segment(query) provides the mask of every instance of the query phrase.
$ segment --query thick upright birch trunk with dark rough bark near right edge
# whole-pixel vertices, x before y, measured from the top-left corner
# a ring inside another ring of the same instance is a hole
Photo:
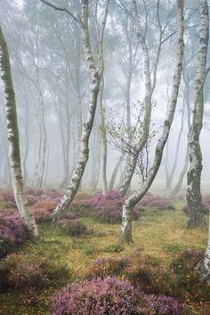
[[[202,153],[199,136],[203,125],[203,85],[206,79],[206,56],[208,49],[209,16],[206,0],[199,1],[200,32],[198,66],[195,81],[195,101],[192,113],[192,125],[188,136],[189,170],[187,174],[187,204],[189,215],[187,228],[193,229],[203,223],[202,195],[200,191],[200,178],[202,172]]]

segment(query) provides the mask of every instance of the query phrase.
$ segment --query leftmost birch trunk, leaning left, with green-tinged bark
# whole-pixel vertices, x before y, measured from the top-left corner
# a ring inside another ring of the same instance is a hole
[[[0,67],[1,78],[4,83],[4,95],[5,95],[5,110],[6,110],[6,122],[8,133],[8,145],[9,145],[9,160],[12,175],[12,185],[14,191],[14,197],[20,217],[23,222],[26,223],[31,233],[37,237],[38,231],[33,214],[28,208],[28,200],[24,191],[24,184],[22,179],[21,161],[20,161],[20,142],[19,142],[19,130],[18,119],[16,111],[15,94],[12,85],[12,73],[9,60],[9,53],[7,50],[7,44],[4,39],[2,28],[0,27]]]

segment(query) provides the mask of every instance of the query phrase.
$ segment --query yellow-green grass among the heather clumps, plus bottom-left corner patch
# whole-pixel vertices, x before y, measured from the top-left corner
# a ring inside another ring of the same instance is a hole
[[[154,260],[161,261],[167,269],[174,259],[187,248],[206,249],[207,224],[200,230],[186,230],[186,217],[181,211],[182,203],[177,203],[176,210],[157,211],[147,209],[141,214],[138,222],[133,222],[133,240],[131,245],[119,246],[117,238],[120,224],[102,224],[90,218],[82,221],[88,227],[89,233],[81,238],[70,238],[62,234],[53,225],[40,224],[41,242],[29,242],[21,246],[19,254],[35,254],[47,257],[57,264],[66,264],[72,280],[85,278],[93,260],[99,257],[123,257],[141,250]],[[47,307],[48,296],[56,290],[47,287],[36,293],[36,299],[24,303],[24,294],[7,293],[0,296],[0,314],[34,315],[49,314]],[[196,314],[197,306],[192,314]],[[198,311],[200,308],[198,307]]]

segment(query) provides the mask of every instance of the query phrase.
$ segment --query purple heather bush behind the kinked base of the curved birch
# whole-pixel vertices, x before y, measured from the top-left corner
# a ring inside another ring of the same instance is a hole
[[[94,207],[94,217],[101,222],[117,223],[122,220],[122,209],[124,198],[117,190],[109,190],[105,196],[96,194],[91,199],[91,205]],[[139,218],[139,212],[133,209],[133,220]]]

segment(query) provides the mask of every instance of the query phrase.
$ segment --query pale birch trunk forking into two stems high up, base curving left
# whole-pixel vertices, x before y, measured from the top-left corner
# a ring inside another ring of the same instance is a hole
[[[103,36],[108,16],[109,0],[107,1],[106,11],[104,14],[104,20],[102,21],[101,27],[101,38],[100,38],[100,52],[102,50]],[[85,171],[85,166],[89,158],[89,138],[93,128],[93,121],[95,116],[95,110],[97,107],[98,94],[100,91],[101,84],[101,58],[100,58],[100,73],[95,66],[93,61],[93,52],[89,40],[89,28],[88,28],[88,1],[82,1],[82,35],[83,43],[85,48],[85,57],[88,64],[88,68],[92,77],[92,89],[90,93],[89,106],[87,117],[83,125],[82,136],[80,141],[79,158],[74,174],[69,182],[66,193],[64,194],[61,202],[52,213],[54,219],[58,219],[63,216],[70,206],[71,202],[77,194],[77,190],[81,181],[81,178]],[[101,54],[101,53],[100,53]]]

